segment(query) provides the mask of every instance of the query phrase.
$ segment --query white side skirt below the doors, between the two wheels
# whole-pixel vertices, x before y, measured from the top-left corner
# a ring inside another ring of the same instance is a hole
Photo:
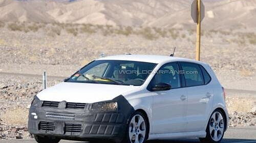
[[[148,140],[152,139],[173,139],[173,138],[191,138],[191,137],[205,137],[205,131],[196,132],[179,132],[179,133],[160,133],[160,134],[150,134]]]

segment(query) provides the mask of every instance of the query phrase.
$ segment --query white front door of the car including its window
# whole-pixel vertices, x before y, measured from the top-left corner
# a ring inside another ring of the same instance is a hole
[[[184,132],[186,129],[186,91],[181,88],[179,68],[176,62],[163,65],[150,83],[168,83],[168,91],[156,91],[153,95],[152,133]]]

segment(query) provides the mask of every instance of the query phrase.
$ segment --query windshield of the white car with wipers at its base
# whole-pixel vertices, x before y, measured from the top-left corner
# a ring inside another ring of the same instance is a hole
[[[145,62],[98,60],[80,69],[66,82],[139,86],[144,83],[155,66],[154,63]]]

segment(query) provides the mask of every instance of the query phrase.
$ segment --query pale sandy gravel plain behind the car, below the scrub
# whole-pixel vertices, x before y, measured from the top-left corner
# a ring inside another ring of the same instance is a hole
[[[52,27],[60,32],[52,31]],[[104,34],[101,30],[78,32],[74,36],[61,26],[48,24],[36,32],[25,33],[11,31],[6,24],[0,27],[0,72],[41,74],[46,70],[48,75],[69,76],[97,59],[100,53],[169,55],[174,46],[177,47],[175,56],[195,58],[195,30],[163,29],[161,34],[167,32],[167,36],[153,39],[150,36],[159,33],[139,35],[136,34],[139,27],[134,28],[134,34],[127,36],[112,31]],[[223,86],[255,90],[256,42],[251,39],[256,37],[255,32],[228,30],[202,33],[201,61],[211,65]]]

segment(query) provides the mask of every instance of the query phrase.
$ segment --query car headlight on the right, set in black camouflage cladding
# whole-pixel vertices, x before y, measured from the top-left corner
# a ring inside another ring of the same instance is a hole
[[[105,111],[105,110],[117,110],[117,102],[99,102],[93,103],[91,110]]]

